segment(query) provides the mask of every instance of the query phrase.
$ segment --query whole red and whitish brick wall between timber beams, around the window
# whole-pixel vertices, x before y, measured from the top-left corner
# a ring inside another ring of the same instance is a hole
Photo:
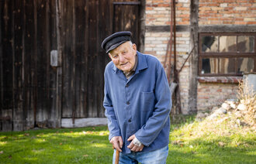
[[[201,26],[255,26],[256,3],[251,0],[199,0],[198,2],[198,27]],[[192,50],[192,37],[190,32],[191,1],[176,0],[176,54],[177,70],[189,56]],[[146,1],[146,32],[144,53],[157,56],[162,63],[167,50],[170,37],[171,24],[171,0],[147,0]],[[167,27],[169,26],[169,27]],[[154,30],[156,29],[156,30]],[[161,30],[162,29],[162,30]],[[228,31],[226,31],[228,32]],[[197,48],[197,47],[196,47]],[[173,54],[172,54],[173,55]],[[190,57],[191,58],[191,57]],[[171,59],[173,63],[173,58]],[[189,60],[179,73],[181,91],[181,107],[183,114],[189,114],[189,83],[193,76],[189,74],[192,67]],[[197,67],[197,66],[196,66]],[[196,77],[195,77],[196,78]],[[213,77],[214,79],[214,77]],[[214,81],[214,80],[213,80]],[[236,98],[237,80],[222,81],[225,83],[213,83],[209,80],[198,80],[197,83],[197,110],[206,111],[213,105],[221,104],[227,98]]]

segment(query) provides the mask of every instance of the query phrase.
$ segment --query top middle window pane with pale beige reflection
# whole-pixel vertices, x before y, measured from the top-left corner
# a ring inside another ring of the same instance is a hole
[[[236,52],[237,36],[220,36],[220,52]]]

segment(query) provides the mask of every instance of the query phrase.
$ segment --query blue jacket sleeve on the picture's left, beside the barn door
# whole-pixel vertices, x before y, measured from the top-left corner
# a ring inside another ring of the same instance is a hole
[[[106,73],[104,73],[105,78],[105,86],[104,86],[104,100],[103,100],[103,107],[106,109],[105,115],[108,119],[108,127],[109,127],[109,141],[112,137],[121,136],[120,128],[118,121],[116,120],[116,114],[114,108],[112,106],[111,97],[109,95],[109,84]]]

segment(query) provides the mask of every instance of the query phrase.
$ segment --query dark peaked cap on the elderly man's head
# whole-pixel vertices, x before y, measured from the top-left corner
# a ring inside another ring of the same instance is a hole
[[[111,36],[108,36],[103,40],[102,49],[106,50],[106,53],[109,53],[109,51],[116,49],[117,46],[130,41],[131,35],[132,32],[130,31],[113,33]]]

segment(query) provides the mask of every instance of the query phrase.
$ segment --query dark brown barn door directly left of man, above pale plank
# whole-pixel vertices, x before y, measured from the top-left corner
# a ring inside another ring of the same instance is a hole
[[[62,118],[102,118],[103,73],[109,57],[101,48],[111,32],[109,0],[60,1]]]

